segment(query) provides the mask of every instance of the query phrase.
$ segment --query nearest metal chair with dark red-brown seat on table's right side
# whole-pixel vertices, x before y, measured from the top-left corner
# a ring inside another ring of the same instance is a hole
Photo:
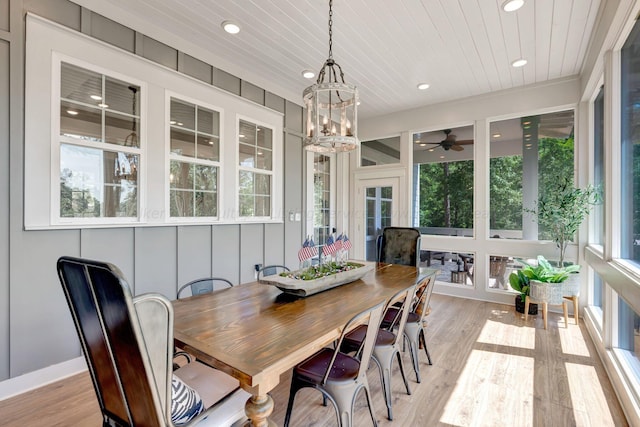
[[[289,402],[284,419],[285,427],[289,426],[291,420],[296,393],[305,387],[320,391],[324,398],[331,401],[336,409],[340,427],[353,425],[353,406],[356,396],[360,390],[364,389],[373,425],[378,425],[367,382],[367,367],[382,320],[383,308],[384,303],[379,303],[354,316],[345,325],[334,349],[323,348],[293,368]],[[359,357],[350,356],[340,351],[347,331],[353,329],[354,325],[365,324],[364,339],[356,352]]]

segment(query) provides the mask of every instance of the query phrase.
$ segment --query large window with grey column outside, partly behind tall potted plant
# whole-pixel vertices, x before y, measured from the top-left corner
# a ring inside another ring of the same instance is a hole
[[[525,209],[558,182],[573,181],[573,110],[490,125],[490,236],[549,240]]]

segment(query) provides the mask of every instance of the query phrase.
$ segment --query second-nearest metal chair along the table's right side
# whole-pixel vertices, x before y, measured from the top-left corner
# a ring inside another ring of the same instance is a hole
[[[404,373],[404,365],[402,364],[402,356],[400,355],[400,346],[403,340],[403,331],[405,324],[407,323],[407,317],[409,310],[411,309],[411,303],[416,292],[416,285],[412,285],[407,289],[397,292],[385,307],[385,315],[392,309],[393,304],[399,303],[400,305],[393,309],[395,315],[393,320],[386,326],[381,326],[378,330],[376,337],[376,343],[373,347],[373,355],[371,359],[378,365],[380,371],[380,379],[382,380],[382,391],[384,393],[384,399],[387,404],[387,418],[393,420],[392,412],[392,400],[391,400],[391,370],[393,365],[393,357],[398,359],[398,365],[400,367],[400,374],[404,381],[404,386],[407,389],[407,394],[411,394],[411,388],[407,382],[407,377]],[[394,333],[394,328],[397,331]],[[342,343],[342,350],[346,353],[352,351],[358,351],[362,345],[366,332],[365,326],[358,326],[353,331],[349,332]]]

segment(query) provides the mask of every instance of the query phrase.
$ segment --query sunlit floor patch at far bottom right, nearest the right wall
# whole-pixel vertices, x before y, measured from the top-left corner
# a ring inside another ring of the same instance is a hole
[[[565,363],[576,425],[613,426],[607,399],[593,366]],[[600,415],[601,419],[593,419]]]

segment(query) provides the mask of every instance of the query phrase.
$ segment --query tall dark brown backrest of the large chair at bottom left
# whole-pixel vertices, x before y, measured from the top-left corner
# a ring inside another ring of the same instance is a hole
[[[62,257],[58,276],[89,367],[104,425],[162,426],[160,402],[140,351],[140,325],[117,267]]]

